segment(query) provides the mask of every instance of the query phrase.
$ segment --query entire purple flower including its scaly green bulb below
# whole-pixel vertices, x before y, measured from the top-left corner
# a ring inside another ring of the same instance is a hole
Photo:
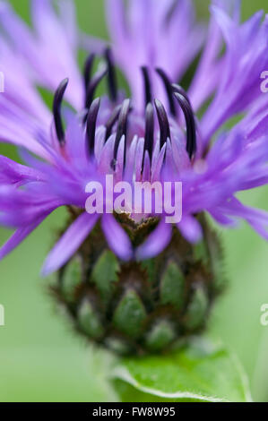
[[[259,12],[240,23],[239,2],[214,0],[206,31],[189,0],[108,0],[108,46],[78,32],[72,1],[58,6],[32,1],[33,29],[0,6],[0,138],[24,161],[0,157],[0,223],[16,229],[0,257],[67,207],[42,272],[59,271],[56,295],[76,327],[118,352],[160,351],[203,327],[221,288],[220,244],[204,213],[226,227],[246,219],[268,239],[267,213],[236,197],[268,181],[268,95],[260,90],[268,19]],[[90,49],[83,73],[81,46]],[[186,92],[177,82],[200,51]],[[131,99],[117,88],[115,64]],[[104,78],[108,95],[95,98]],[[37,86],[55,92],[52,112]],[[104,185],[107,175],[182,182],[182,220],[167,224],[153,208],[137,217],[123,204],[121,214],[87,213],[86,185]]]

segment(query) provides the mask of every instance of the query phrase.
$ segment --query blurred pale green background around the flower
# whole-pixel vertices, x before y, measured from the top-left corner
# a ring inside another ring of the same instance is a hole
[[[11,3],[30,20],[28,0]],[[75,3],[82,29],[107,38],[103,1]],[[208,3],[195,0],[203,17],[208,14]],[[246,19],[265,5],[267,8],[267,0],[242,0],[242,5]],[[11,151],[0,147],[1,153],[6,150]],[[243,196],[246,203],[268,211],[267,188]],[[39,277],[54,228],[64,219],[65,211],[56,211],[0,263],[0,304],[5,309],[5,325],[0,327],[0,401],[117,400],[106,379],[108,354],[89,348],[70,331],[48,296],[48,280]],[[0,243],[9,235],[0,229]],[[268,326],[260,323],[261,305],[268,303],[268,247],[246,225],[223,231],[222,239],[229,288],[214,310],[210,335],[238,354],[254,399],[268,401]]]

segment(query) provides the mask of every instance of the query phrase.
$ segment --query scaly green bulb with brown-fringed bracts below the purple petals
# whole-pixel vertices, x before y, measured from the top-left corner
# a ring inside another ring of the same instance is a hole
[[[51,286],[77,331],[119,355],[164,352],[201,333],[224,279],[219,238],[203,215],[196,218],[203,228],[198,245],[174,228],[160,254],[130,262],[108,249],[98,223]],[[117,219],[134,249],[158,223]]]

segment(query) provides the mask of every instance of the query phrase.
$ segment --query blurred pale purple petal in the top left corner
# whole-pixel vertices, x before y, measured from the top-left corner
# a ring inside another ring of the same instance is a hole
[[[67,3],[66,3],[67,2]],[[68,0],[61,1],[62,7],[70,7]],[[0,21],[4,30],[13,40],[13,49],[25,59],[25,64],[30,66],[36,82],[50,90],[56,90],[58,83],[70,78],[66,98],[76,109],[82,108],[82,77],[76,64],[75,53],[77,45],[73,45],[73,24],[67,35],[65,21],[56,16],[51,0],[31,2],[34,30],[20,20],[12,8],[1,4]],[[61,13],[62,15],[62,13]],[[63,16],[63,15],[62,15]],[[65,18],[66,19],[66,16]],[[44,59],[45,58],[45,59]],[[19,58],[18,60],[19,61]],[[53,71],[51,71],[53,69]],[[16,66],[9,69],[9,73],[17,74]]]

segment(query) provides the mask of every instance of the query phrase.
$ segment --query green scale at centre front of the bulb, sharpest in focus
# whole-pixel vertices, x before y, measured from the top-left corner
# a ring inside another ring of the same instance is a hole
[[[142,300],[134,289],[129,289],[117,305],[114,315],[114,325],[118,331],[136,338],[143,329],[146,311]]]

